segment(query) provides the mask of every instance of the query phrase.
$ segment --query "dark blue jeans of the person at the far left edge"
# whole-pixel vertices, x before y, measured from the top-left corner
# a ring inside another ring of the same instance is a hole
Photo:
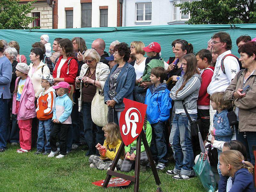
[[[0,98],[0,148],[6,148],[7,127],[8,127],[8,102],[9,99]]]

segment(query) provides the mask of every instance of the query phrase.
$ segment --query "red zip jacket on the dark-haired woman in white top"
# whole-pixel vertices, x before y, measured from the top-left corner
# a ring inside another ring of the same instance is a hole
[[[63,58],[63,55],[60,55],[58,62],[55,64],[55,67],[52,72],[53,78],[57,77],[57,69],[58,69],[58,66],[60,65],[60,60],[62,58]],[[68,60],[70,60],[69,66],[68,66]],[[70,85],[73,85],[75,90],[76,90],[75,80],[77,76],[77,71],[78,71],[78,63],[76,61],[76,58],[74,57],[68,57],[68,59],[66,60],[66,62],[64,63],[60,71],[60,78],[64,78],[65,82],[67,82]]]

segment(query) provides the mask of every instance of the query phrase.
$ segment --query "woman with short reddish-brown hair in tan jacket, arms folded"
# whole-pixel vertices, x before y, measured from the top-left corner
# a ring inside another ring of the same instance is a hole
[[[225,91],[224,99],[232,100],[236,120],[236,140],[246,147],[247,161],[255,164],[252,146],[256,145],[256,42],[247,42],[238,49],[242,69]],[[252,89],[243,92],[246,86]]]

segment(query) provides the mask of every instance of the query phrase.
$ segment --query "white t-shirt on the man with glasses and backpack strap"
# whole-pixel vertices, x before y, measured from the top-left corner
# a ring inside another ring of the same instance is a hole
[[[236,60],[236,58],[233,56],[228,56],[224,59],[224,67],[225,67],[226,74],[222,72],[221,60],[227,54],[231,54],[231,51],[228,50],[220,54],[219,57],[217,58],[213,76],[212,76],[212,81],[207,88],[207,92],[210,95],[214,92],[225,91],[228,85],[230,84],[231,80],[234,79],[234,77],[236,76],[236,73],[240,69],[239,63]]]

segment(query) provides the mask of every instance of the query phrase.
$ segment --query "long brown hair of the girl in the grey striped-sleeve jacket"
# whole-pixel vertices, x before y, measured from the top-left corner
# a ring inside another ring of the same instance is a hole
[[[195,74],[199,74],[199,71],[197,69],[197,61],[196,61],[196,57],[194,54],[189,53],[187,55],[184,55],[182,58],[182,60],[186,60],[187,61],[187,67],[186,67],[186,72],[184,74],[184,81],[183,84],[180,86],[180,88],[177,90],[176,92],[176,96],[178,94],[179,91],[181,91],[185,85],[188,83],[188,80]]]

